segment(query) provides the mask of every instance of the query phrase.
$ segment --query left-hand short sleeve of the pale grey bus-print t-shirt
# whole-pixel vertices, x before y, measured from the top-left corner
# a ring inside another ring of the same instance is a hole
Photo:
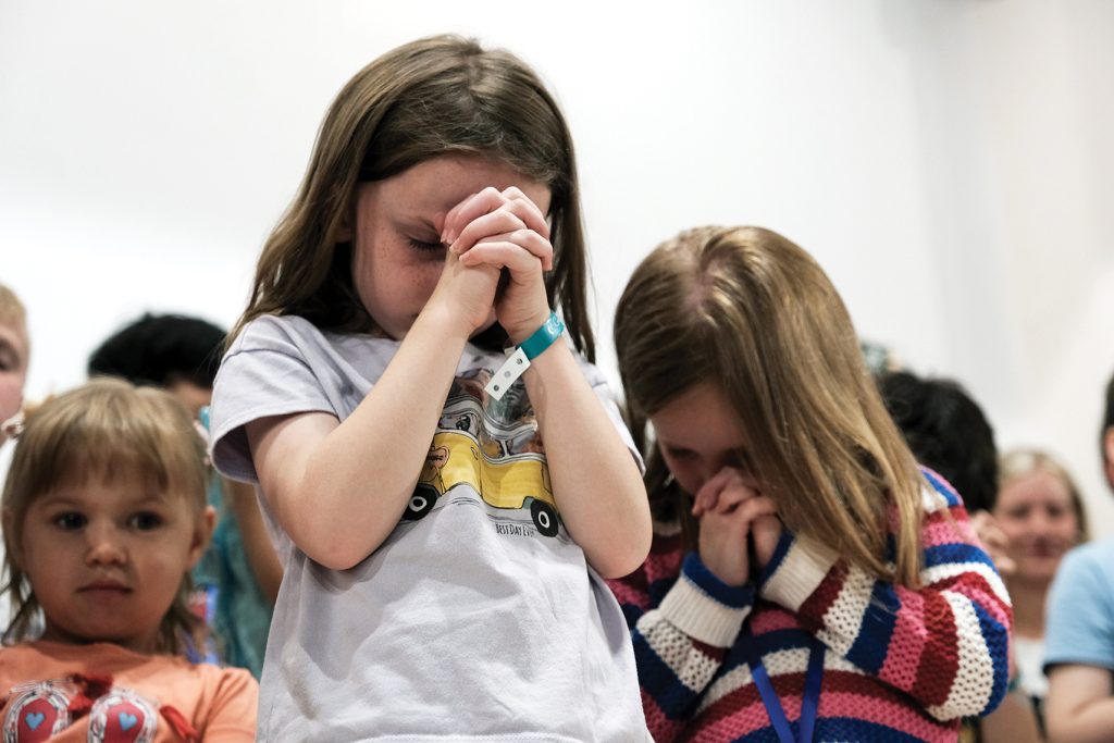
[[[225,354],[213,384],[213,466],[234,480],[258,483],[247,423],[301,412],[336,413],[303,344],[280,320],[251,322]]]

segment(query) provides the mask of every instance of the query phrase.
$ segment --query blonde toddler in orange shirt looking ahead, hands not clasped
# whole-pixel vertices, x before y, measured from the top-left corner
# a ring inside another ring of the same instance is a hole
[[[205,638],[187,606],[205,481],[166,392],[104,379],[28,413],[2,501],[4,740],[254,740],[255,680],[182,656]]]

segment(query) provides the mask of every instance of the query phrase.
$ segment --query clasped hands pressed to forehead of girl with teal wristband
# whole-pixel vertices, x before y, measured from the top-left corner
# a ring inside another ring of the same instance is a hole
[[[485,188],[449,211],[440,227],[449,252],[434,297],[450,302],[470,332],[483,326],[492,307],[514,343],[548,319],[543,272],[553,268],[554,248],[545,215],[526,194],[514,186]]]

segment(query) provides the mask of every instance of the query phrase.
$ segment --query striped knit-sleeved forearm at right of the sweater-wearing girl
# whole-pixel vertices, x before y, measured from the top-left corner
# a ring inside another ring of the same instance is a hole
[[[965,561],[978,555],[985,564]],[[916,590],[873,578],[805,539],[783,538],[773,565],[763,597],[795,612],[829,648],[934,717],[985,714],[1005,694],[1008,599],[981,550],[931,566]]]

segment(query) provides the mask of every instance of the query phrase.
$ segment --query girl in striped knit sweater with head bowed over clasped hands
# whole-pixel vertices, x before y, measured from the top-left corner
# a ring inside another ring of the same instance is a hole
[[[635,270],[615,343],[655,535],[612,588],[656,740],[955,741],[997,705],[1005,587],[808,253],[682,233]]]

